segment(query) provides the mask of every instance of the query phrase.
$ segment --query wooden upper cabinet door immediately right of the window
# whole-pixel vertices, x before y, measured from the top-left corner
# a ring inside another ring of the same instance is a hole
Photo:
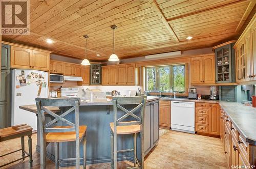
[[[203,83],[202,80],[202,57],[191,58],[190,60],[191,83]]]

